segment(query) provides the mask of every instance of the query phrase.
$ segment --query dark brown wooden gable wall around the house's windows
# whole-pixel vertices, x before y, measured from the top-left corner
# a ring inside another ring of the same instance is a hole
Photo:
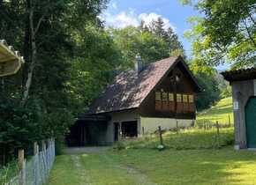
[[[171,83],[171,76],[178,74],[180,76],[179,82],[177,85]],[[163,78],[159,85],[154,88],[154,91],[148,94],[147,99],[142,102],[139,107],[139,114],[144,117],[169,117],[169,118],[179,118],[179,119],[195,119],[195,105],[191,104],[193,111],[186,113],[178,113],[177,108],[175,111],[157,111],[155,110],[155,92],[164,92],[169,93],[182,93],[182,94],[195,94],[195,86],[192,82],[192,79],[187,74],[187,71],[184,70],[184,67],[181,63],[177,64],[175,69],[171,70],[166,78]],[[177,107],[176,97],[175,98],[175,107]]]

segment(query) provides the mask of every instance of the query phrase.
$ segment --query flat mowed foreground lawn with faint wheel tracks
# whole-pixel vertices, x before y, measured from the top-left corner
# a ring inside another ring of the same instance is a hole
[[[57,156],[49,185],[253,185],[255,152],[130,149]],[[76,164],[79,162],[79,165]]]

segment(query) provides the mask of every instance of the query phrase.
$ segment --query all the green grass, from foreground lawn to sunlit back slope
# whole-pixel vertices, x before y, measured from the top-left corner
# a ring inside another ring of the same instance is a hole
[[[230,98],[198,118],[221,122],[228,115]],[[101,154],[57,156],[49,185],[256,185],[256,152],[234,151],[233,132],[221,128],[219,144],[215,128],[166,132],[162,152],[152,135],[118,142]]]

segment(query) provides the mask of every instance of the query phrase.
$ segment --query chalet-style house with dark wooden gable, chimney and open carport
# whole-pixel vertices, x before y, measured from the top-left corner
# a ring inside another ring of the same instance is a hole
[[[89,111],[81,115],[66,138],[71,146],[113,144],[120,137],[139,137],[189,127],[196,117],[195,94],[200,85],[181,56],[169,57],[122,72]]]

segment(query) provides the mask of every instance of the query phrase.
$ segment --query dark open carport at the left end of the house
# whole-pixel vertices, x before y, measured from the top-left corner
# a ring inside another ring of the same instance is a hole
[[[93,146],[108,145],[107,141],[108,122],[104,119],[79,119],[65,137],[67,146]]]

